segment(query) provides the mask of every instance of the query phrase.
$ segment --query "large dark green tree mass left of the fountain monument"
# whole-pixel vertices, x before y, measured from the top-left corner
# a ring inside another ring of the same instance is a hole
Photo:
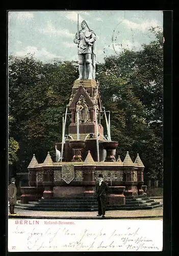
[[[32,55],[9,60],[10,135],[19,142],[20,168],[25,171],[33,153],[43,162],[62,140],[62,115],[78,72],[75,62],[43,63]]]

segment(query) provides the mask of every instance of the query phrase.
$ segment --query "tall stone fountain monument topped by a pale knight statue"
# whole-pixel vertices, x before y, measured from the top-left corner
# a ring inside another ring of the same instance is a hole
[[[85,20],[81,27],[73,40],[78,45],[79,78],[73,82],[63,119],[62,142],[56,143],[61,157],[53,162],[48,152],[44,162],[38,163],[33,156],[28,166],[30,187],[21,188],[22,203],[41,198],[88,201],[94,197],[95,181],[100,173],[110,188],[108,205],[125,205],[125,198],[143,195],[144,165],[139,155],[135,162],[129,152],[123,162],[115,156],[118,142],[110,140],[110,121],[103,111],[99,82],[95,80],[97,36]],[[65,137],[67,113],[71,115],[71,123]],[[106,116],[108,139],[100,123],[102,114]]]

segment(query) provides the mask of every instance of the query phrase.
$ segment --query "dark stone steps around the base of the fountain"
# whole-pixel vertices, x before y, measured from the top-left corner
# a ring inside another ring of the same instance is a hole
[[[162,204],[148,197],[126,198],[125,205],[106,205],[106,210],[137,210],[161,207]],[[94,198],[55,198],[39,199],[28,204],[17,201],[15,206],[24,210],[42,211],[97,211],[97,200]]]

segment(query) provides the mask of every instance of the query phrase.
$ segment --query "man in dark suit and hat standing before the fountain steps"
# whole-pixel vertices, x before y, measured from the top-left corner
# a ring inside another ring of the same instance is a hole
[[[106,211],[106,197],[108,193],[108,184],[103,180],[103,175],[99,174],[98,182],[95,186],[95,194],[98,202],[98,215],[102,218],[105,218],[105,211]]]

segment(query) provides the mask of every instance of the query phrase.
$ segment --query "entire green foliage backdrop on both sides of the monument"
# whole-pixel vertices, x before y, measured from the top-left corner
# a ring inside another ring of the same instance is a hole
[[[103,106],[111,112],[111,137],[119,141],[117,155],[139,153],[144,178],[163,177],[163,35],[140,51],[123,50],[96,65]],[[33,55],[9,58],[9,164],[27,172],[33,154],[43,162],[62,140],[62,115],[69,103],[74,61],[43,63]],[[103,122],[103,120],[102,120]],[[66,131],[67,133],[67,131]]]

